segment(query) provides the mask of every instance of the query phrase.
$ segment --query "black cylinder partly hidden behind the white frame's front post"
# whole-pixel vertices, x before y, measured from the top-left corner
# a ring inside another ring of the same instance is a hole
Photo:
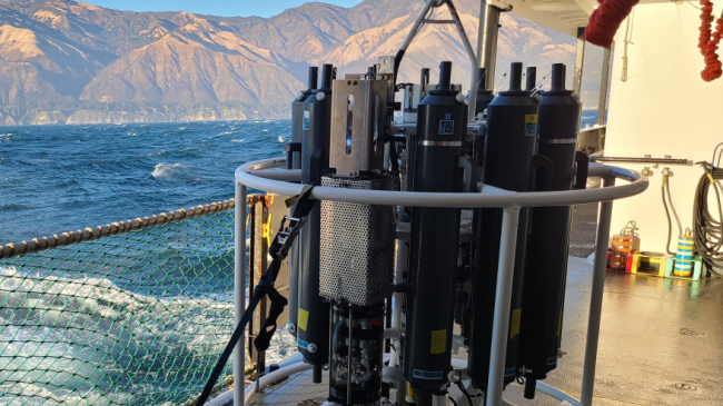
[[[532,157],[537,136],[537,102],[529,97],[529,92],[519,89],[522,63],[513,63],[511,75],[509,90],[501,92],[487,107],[484,182],[512,191],[529,191]],[[475,218],[478,218],[479,250],[473,280],[468,373],[475,385],[483,389],[487,387],[489,370],[502,217],[502,209],[479,209],[475,212]],[[517,229],[505,384],[513,382],[517,374],[526,237],[527,210],[522,209]]]

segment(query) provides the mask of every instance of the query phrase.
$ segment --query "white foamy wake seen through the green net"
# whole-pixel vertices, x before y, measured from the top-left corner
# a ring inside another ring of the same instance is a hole
[[[232,329],[228,295],[159,299],[99,276],[0,266],[0,404],[179,404]]]

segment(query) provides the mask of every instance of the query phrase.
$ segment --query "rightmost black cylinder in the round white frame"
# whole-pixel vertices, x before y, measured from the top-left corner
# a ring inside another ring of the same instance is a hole
[[[539,103],[537,155],[552,161],[551,182],[538,170],[537,190],[571,190],[575,176],[575,150],[580,129],[581,103],[565,90],[564,66],[553,65],[549,91]],[[532,209],[532,227],[527,242],[527,270],[523,295],[525,317],[521,327],[519,364],[524,365],[529,385],[544,379],[557,367],[557,349],[562,334],[563,303],[567,275],[571,207]],[[531,379],[532,378],[532,379]],[[532,389],[531,394],[534,393]]]

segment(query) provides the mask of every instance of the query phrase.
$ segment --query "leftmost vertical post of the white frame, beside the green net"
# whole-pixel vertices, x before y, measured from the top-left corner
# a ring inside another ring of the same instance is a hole
[[[234,222],[234,319],[241,321],[246,310],[246,186],[236,184],[236,208]],[[234,405],[244,406],[246,390],[246,345],[245,337],[236,344],[234,350]]]

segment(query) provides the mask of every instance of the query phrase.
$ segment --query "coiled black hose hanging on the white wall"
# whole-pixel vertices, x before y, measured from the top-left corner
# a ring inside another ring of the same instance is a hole
[[[721,205],[720,180],[723,179],[723,169],[713,168],[707,162],[699,162],[705,174],[701,176],[695,189],[693,204],[693,235],[695,250],[701,256],[707,268],[717,276],[723,276],[723,207]],[[711,215],[709,208],[709,191],[713,187],[717,202],[717,219]]]

